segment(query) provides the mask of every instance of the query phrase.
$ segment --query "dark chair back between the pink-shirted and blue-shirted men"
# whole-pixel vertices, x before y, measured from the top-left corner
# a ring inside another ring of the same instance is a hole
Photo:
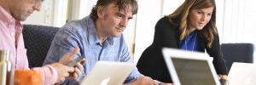
[[[58,27],[24,25],[23,37],[29,67],[42,66]]]

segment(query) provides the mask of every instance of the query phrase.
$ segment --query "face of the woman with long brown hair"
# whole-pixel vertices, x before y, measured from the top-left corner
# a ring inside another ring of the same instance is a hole
[[[189,11],[189,30],[202,30],[212,18],[213,7],[191,9]]]

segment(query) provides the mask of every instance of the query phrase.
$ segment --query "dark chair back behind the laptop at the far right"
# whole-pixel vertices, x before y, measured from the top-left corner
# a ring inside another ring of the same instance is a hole
[[[230,71],[233,62],[253,63],[252,43],[223,43],[221,51],[226,60],[227,71]]]

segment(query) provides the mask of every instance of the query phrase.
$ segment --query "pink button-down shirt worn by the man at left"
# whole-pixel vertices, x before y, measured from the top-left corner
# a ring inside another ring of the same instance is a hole
[[[0,6],[0,50],[10,50],[9,58],[13,64],[13,70],[29,70],[22,28],[20,20],[15,20]],[[57,72],[50,65],[32,68],[31,70],[40,71],[43,85],[52,85],[57,81]]]

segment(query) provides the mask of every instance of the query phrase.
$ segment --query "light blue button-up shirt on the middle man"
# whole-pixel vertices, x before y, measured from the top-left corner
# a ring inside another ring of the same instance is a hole
[[[90,16],[87,16],[82,20],[67,23],[56,33],[44,60],[44,65],[59,61],[63,55],[71,52],[76,47],[80,48],[80,52],[74,57],[84,56],[86,59],[82,76],[77,79],[79,82],[99,60],[131,62],[131,54],[125,44],[123,34],[120,37],[108,37],[101,45],[96,33],[95,23],[90,19]],[[130,76],[126,78],[125,83],[134,82],[142,76],[135,68]],[[74,83],[75,81],[68,81],[69,85]],[[67,83],[65,82],[65,84]]]

